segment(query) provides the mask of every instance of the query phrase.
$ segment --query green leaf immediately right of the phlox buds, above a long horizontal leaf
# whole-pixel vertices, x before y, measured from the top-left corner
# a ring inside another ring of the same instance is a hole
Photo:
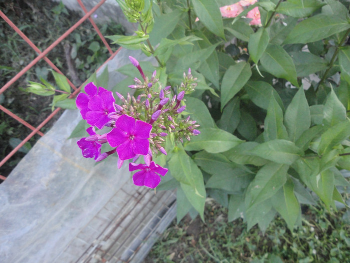
[[[211,118],[208,108],[204,102],[196,98],[186,98],[186,112],[190,114],[191,119],[198,122],[200,128],[215,128],[216,125]]]

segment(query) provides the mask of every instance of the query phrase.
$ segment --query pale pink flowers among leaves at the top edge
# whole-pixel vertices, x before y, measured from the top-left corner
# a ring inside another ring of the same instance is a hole
[[[225,18],[235,18],[243,12],[244,7],[253,5],[257,0],[241,0],[233,5],[220,8],[221,16]],[[251,19],[249,25],[261,26],[260,12],[257,7],[253,8],[246,14],[246,18]]]

